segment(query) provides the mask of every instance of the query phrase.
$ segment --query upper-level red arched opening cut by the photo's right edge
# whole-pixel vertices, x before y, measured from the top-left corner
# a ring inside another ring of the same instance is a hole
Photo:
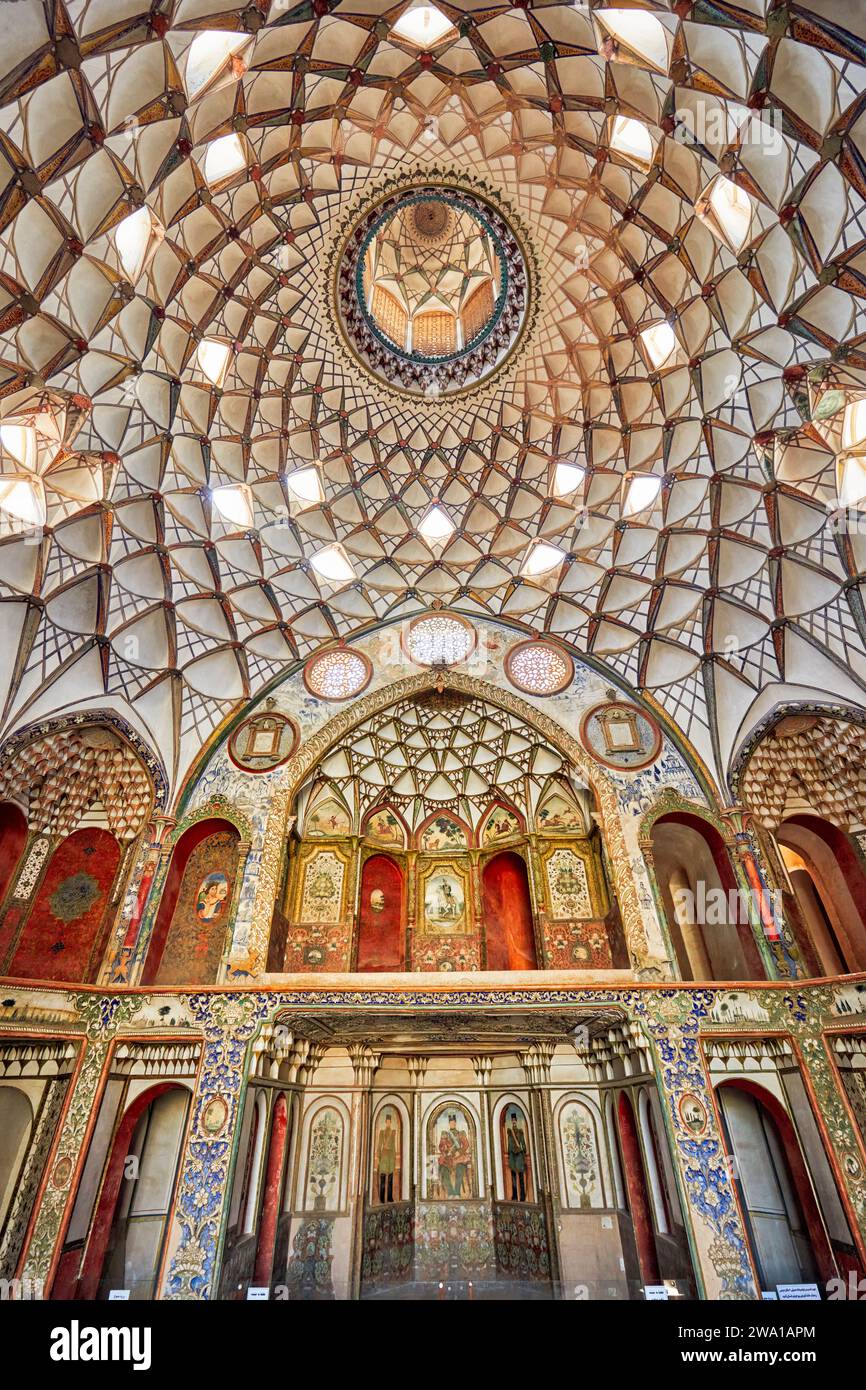
[[[866,872],[847,831],[822,816],[790,816],[776,841],[788,870],[815,974],[866,970]]]

